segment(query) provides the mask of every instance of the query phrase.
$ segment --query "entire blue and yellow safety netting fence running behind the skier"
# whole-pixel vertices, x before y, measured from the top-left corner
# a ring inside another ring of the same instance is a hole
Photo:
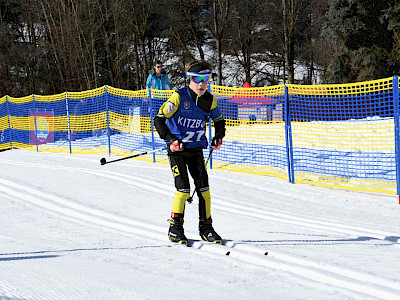
[[[396,194],[398,88],[393,78],[318,86],[210,85],[227,129],[211,166],[294,183]],[[4,96],[0,150],[129,156],[157,149],[165,142],[153,118],[172,93],[103,86],[57,95]],[[211,123],[206,135],[213,136]],[[141,159],[168,162],[165,151]]]

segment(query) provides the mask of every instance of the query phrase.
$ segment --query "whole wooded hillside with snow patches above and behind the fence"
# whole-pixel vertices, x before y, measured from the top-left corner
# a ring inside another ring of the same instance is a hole
[[[0,97],[144,88],[154,59],[172,86],[190,60],[214,84],[315,84],[400,74],[398,0],[6,0]]]

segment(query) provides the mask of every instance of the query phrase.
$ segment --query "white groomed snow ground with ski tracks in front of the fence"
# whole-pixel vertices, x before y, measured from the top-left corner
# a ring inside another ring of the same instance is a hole
[[[226,245],[195,199],[186,247],[169,166],[101,157],[0,153],[0,299],[400,299],[397,196],[209,170]]]

